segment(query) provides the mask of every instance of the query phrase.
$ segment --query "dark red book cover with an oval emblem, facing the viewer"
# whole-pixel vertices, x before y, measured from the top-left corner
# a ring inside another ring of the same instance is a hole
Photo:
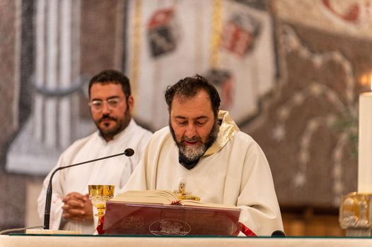
[[[240,209],[107,201],[105,234],[237,236]]]

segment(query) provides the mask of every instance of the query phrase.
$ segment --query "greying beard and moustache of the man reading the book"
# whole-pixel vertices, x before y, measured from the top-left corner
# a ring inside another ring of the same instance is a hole
[[[209,135],[207,137],[207,142],[202,143],[202,145],[198,145],[197,147],[194,146],[189,146],[185,145],[183,142],[185,141],[200,141],[202,142],[202,138],[199,135],[195,135],[192,138],[187,138],[185,135],[182,136],[180,142],[178,142],[176,136],[175,136],[175,131],[172,127],[172,124],[170,123],[169,120],[169,128],[170,128],[170,133],[172,133],[173,140],[177,144],[179,150],[180,150],[180,157],[182,157],[183,161],[185,163],[192,163],[192,162],[197,162],[200,157],[204,155],[204,152],[207,151],[211,145],[216,141],[217,135],[219,135],[219,121],[214,122],[214,126],[211,128],[211,132],[209,132]]]

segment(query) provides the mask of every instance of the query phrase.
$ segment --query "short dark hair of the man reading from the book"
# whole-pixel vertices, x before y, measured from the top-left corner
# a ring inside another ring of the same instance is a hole
[[[194,97],[200,90],[204,90],[209,95],[211,100],[211,107],[214,112],[214,116],[217,117],[219,114],[219,106],[221,103],[219,92],[217,92],[214,85],[208,82],[203,76],[196,74],[194,77],[183,78],[172,86],[168,86],[165,90],[165,102],[168,104],[168,111],[172,108],[172,102],[174,97]]]

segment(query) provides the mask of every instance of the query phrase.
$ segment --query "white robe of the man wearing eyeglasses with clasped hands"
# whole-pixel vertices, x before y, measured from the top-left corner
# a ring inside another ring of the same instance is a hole
[[[62,198],[71,192],[87,194],[88,184],[115,185],[115,192],[119,191],[127,183],[136,164],[139,163],[150,137],[151,132],[138,126],[132,119],[127,128],[115,135],[113,140],[109,142],[106,142],[99,131],[96,131],[86,138],[76,140],[68,147],[59,157],[57,166],[52,171],[60,166],[116,155],[124,152],[128,147],[134,150],[134,155],[132,157],[125,155],[112,157],[57,171],[52,181],[50,229],[82,231],[83,234],[93,234],[96,224],[93,219],[86,222],[62,219],[62,205],[64,204]],[[37,198],[37,210],[41,219],[44,219],[45,195],[52,171],[45,178],[42,191]]]

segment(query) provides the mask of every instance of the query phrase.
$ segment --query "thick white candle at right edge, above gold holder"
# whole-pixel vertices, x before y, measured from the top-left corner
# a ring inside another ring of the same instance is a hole
[[[372,193],[372,92],[359,95],[358,156],[358,192]]]

